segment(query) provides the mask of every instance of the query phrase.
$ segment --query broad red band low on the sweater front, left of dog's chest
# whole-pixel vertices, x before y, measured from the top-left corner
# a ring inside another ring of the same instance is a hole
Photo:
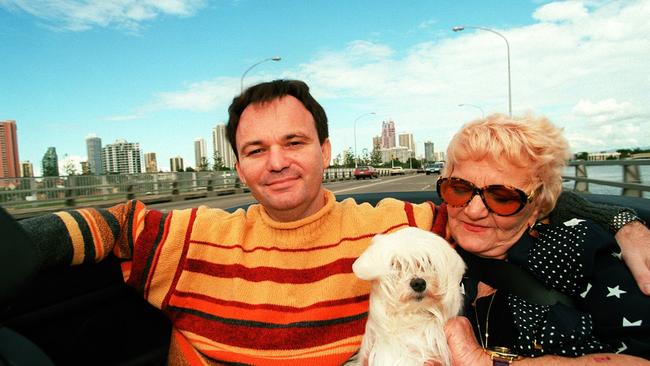
[[[222,344],[259,350],[317,347],[359,336],[364,333],[367,320],[367,317],[363,316],[326,326],[264,328],[226,324],[197,314],[170,310],[175,318],[174,325],[180,329]]]

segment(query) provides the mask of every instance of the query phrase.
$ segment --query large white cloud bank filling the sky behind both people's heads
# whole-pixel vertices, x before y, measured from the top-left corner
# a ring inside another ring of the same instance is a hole
[[[495,29],[510,45],[513,113],[548,116],[565,128],[574,151],[646,146],[650,0],[551,3],[535,19]],[[377,115],[357,126],[358,151],[372,148],[382,118],[393,118],[421,152],[426,140],[444,150],[462,123],[480,116],[458,104],[507,113],[506,65],[502,39],[467,29],[404,52],[356,40],[273,75],[308,82],[330,117],[334,155],[354,145],[352,121],[369,111]],[[197,81],[159,93],[144,109],[223,111],[238,91],[235,77]]]

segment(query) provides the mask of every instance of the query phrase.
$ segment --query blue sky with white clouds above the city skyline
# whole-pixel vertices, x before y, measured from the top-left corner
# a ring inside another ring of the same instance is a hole
[[[0,0],[0,120],[36,174],[49,146],[86,160],[89,135],[194,166],[194,140],[211,159],[212,128],[263,61],[245,86],[306,81],[333,157],[372,150],[389,119],[418,155],[444,151],[509,99],[574,152],[647,147],[648,19],[650,0]]]

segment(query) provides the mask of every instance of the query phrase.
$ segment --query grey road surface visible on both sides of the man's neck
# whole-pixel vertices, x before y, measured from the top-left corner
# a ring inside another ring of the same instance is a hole
[[[379,177],[377,179],[362,179],[326,183],[325,188],[334,194],[376,193],[376,192],[405,192],[405,191],[434,191],[436,175],[412,174],[395,177]],[[250,193],[226,196],[197,198],[185,201],[148,204],[148,207],[161,211],[183,209],[205,205],[215,208],[229,208],[255,202]]]

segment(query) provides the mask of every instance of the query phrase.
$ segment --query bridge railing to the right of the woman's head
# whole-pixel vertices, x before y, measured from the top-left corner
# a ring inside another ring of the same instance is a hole
[[[570,161],[570,167],[575,168],[575,175],[562,176],[562,179],[574,181],[573,190],[589,192],[589,184],[598,184],[609,187],[621,188],[621,195],[628,197],[643,197],[643,192],[650,192],[650,185],[643,183],[641,166],[650,165],[650,159],[624,159],[601,161]],[[620,166],[622,169],[622,182],[589,178],[588,167]],[[646,177],[647,179],[647,177]]]

